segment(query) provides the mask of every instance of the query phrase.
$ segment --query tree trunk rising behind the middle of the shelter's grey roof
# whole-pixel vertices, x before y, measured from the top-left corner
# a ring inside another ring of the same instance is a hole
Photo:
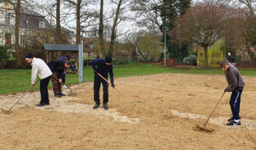
[[[55,43],[61,43],[61,41],[61,0],[57,0]],[[61,51],[55,51],[55,60],[58,60],[60,57]]]

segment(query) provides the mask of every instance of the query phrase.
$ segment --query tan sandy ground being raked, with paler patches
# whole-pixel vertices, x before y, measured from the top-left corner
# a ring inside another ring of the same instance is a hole
[[[72,85],[76,94],[65,89],[62,98],[49,89],[47,107],[35,107],[38,91],[28,93],[12,113],[0,112],[0,149],[256,150],[256,78],[243,78],[241,127],[225,125],[231,116],[226,93],[207,124],[212,133],[196,128],[222,95],[224,75],[156,74],[117,78],[108,111],[92,109],[92,83]],[[0,108],[8,110],[20,95],[0,95]]]

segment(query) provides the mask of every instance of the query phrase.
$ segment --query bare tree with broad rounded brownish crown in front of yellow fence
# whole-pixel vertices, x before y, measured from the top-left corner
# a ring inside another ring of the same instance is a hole
[[[181,40],[189,40],[205,49],[205,66],[208,66],[207,48],[224,36],[226,9],[210,3],[199,4],[188,10],[178,22]]]

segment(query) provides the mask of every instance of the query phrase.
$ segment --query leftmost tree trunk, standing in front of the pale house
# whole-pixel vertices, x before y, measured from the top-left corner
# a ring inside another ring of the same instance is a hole
[[[16,52],[16,67],[20,68],[22,66],[23,55],[20,51],[20,44],[19,44],[19,26],[20,26],[20,0],[17,0],[17,5],[15,9],[15,52]]]

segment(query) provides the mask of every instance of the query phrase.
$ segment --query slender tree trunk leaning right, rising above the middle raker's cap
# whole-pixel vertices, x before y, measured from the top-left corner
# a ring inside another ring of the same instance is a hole
[[[109,53],[108,53],[108,55],[111,55],[111,56],[113,55],[113,44],[114,44],[115,37],[116,37],[115,28],[117,26],[117,20],[119,19],[119,11],[120,11],[121,4],[122,4],[122,0],[119,0],[118,8],[116,9],[115,18],[113,20],[113,26],[112,26],[112,32],[111,32],[111,41],[110,41]]]

